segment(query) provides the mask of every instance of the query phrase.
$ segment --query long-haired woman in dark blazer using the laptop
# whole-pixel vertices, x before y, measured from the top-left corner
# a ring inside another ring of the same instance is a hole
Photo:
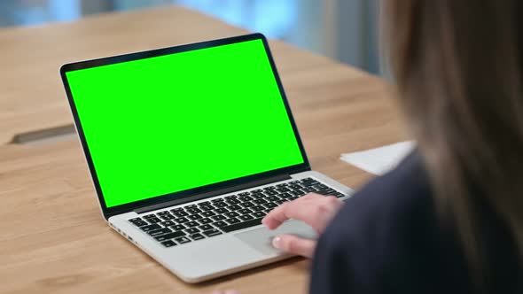
[[[418,150],[341,208],[315,195],[278,207],[269,228],[294,218],[322,236],[274,244],[315,252],[310,293],[523,293],[523,4],[382,4]]]

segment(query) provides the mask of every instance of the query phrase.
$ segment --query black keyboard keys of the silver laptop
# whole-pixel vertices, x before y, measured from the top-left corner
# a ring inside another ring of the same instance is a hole
[[[263,217],[278,205],[310,192],[345,196],[322,182],[306,178],[149,213],[129,221],[165,247],[172,247],[260,225]]]

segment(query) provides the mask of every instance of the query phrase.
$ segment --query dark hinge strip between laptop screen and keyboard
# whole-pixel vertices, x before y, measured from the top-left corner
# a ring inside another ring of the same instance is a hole
[[[291,175],[289,175],[289,174],[281,174],[281,175],[277,175],[277,176],[274,176],[274,177],[270,177],[270,178],[266,178],[266,179],[262,179],[262,180],[258,180],[258,181],[254,181],[254,182],[248,182],[248,183],[245,183],[245,184],[236,185],[236,186],[232,186],[232,187],[229,187],[229,188],[224,188],[224,189],[221,189],[221,190],[214,190],[214,191],[210,191],[210,192],[199,194],[199,195],[195,195],[195,196],[183,197],[183,198],[180,198],[180,199],[171,200],[171,201],[167,201],[167,202],[164,202],[164,203],[159,203],[159,204],[156,204],[156,205],[148,205],[148,206],[140,207],[140,208],[135,209],[134,212],[135,213],[152,212],[153,210],[158,210],[158,209],[169,207],[169,206],[183,205],[185,203],[196,201],[196,200],[200,200],[200,199],[204,199],[204,198],[207,198],[207,197],[213,197],[213,196],[218,196],[218,195],[222,195],[222,194],[227,194],[227,193],[238,191],[238,190],[246,190],[246,189],[254,188],[254,187],[257,187],[257,186],[262,186],[262,185],[265,185],[265,184],[268,184],[268,183],[271,183],[271,182],[280,182],[280,181],[285,181],[285,180],[289,180],[289,179],[292,179]]]

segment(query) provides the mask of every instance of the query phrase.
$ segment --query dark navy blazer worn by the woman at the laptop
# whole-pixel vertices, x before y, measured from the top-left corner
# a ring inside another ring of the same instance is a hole
[[[488,205],[478,209],[488,270],[482,292],[523,293],[510,231]],[[436,213],[423,160],[413,153],[349,198],[326,228],[310,293],[476,293],[458,240]]]

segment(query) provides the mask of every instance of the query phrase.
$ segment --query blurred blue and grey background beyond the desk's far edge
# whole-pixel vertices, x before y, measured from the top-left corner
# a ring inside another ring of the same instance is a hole
[[[0,0],[0,27],[180,4],[380,74],[379,0]]]

